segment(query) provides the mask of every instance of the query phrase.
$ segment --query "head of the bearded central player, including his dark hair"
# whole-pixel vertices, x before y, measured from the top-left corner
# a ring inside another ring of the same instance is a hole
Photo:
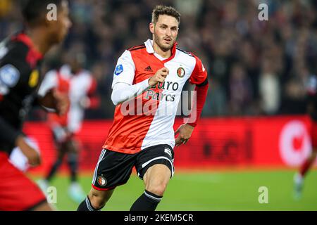
[[[153,41],[163,50],[173,47],[178,37],[180,13],[170,6],[156,6],[152,12],[149,29],[153,34]]]

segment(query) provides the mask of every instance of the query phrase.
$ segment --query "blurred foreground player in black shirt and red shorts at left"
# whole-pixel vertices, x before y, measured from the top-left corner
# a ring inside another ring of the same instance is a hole
[[[57,7],[56,20],[46,17],[49,4]],[[23,7],[23,18],[25,30],[0,44],[0,210],[51,210],[42,191],[9,162],[8,156],[18,147],[30,165],[39,165],[37,150],[21,131],[25,116],[37,104],[60,114],[68,108],[67,98],[56,92],[37,96],[42,58],[63,41],[71,25],[68,2],[29,0]]]

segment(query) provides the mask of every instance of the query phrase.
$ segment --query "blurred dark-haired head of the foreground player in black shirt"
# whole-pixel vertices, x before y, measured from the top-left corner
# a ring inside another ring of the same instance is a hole
[[[24,3],[22,13],[28,28],[42,28],[49,44],[63,41],[71,25],[67,0],[26,0]]]

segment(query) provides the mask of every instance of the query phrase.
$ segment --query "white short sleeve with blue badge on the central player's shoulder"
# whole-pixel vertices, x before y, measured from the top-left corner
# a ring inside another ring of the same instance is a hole
[[[132,60],[130,51],[125,52],[118,59],[116,69],[113,72],[112,88],[117,83],[126,83],[132,85],[135,78],[135,63]]]

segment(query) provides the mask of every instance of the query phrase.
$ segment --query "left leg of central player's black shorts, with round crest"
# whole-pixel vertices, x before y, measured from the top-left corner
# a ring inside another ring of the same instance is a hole
[[[127,183],[135,165],[136,155],[102,150],[94,169],[92,188],[109,191]]]

